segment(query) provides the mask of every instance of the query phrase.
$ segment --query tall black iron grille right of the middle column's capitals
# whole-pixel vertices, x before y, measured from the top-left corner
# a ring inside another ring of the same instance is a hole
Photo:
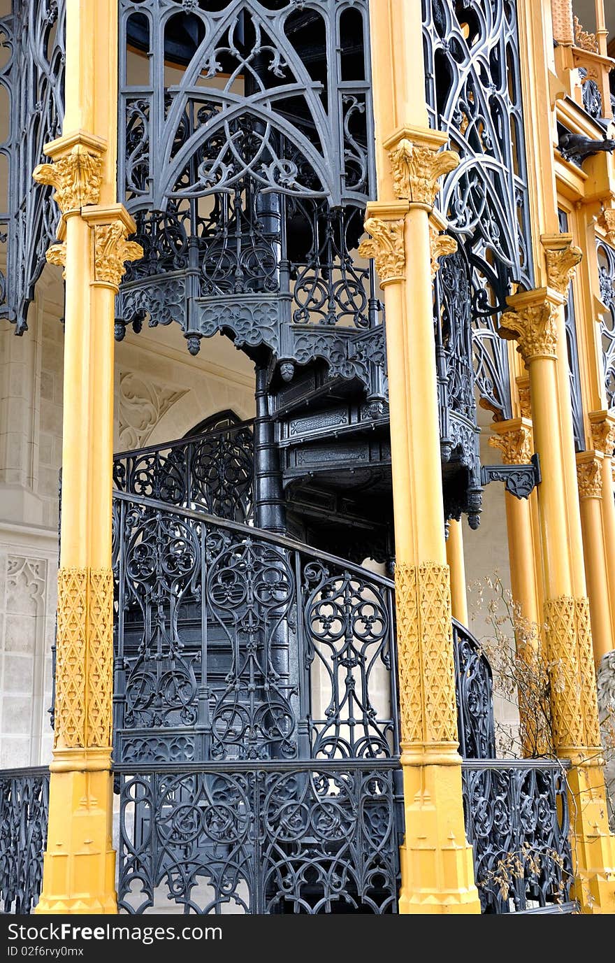
[[[448,134],[460,165],[436,203],[458,252],[441,260],[435,319],[441,391],[452,413],[443,455],[460,461],[466,491],[448,516],[475,527],[480,481],[474,386],[497,421],[512,417],[507,346],[497,321],[513,284],[533,286],[516,5],[511,0],[423,2],[430,126]],[[450,345],[450,348],[448,346]]]

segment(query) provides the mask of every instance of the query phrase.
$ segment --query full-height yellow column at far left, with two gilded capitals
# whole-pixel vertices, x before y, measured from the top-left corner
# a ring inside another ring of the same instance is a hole
[[[55,187],[64,264],[62,546],[49,826],[36,912],[115,913],[112,847],[114,303],[135,224],[115,202],[116,0],[67,0],[63,136],[35,180]]]

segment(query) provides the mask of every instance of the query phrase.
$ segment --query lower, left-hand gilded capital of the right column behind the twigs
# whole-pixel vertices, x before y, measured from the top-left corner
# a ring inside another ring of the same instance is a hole
[[[538,288],[506,301],[511,310],[500,318],[500,337],[519,342],[517,351],[526,364],[535,358],[556,358],[557,309],[563,298],[551,288]]]

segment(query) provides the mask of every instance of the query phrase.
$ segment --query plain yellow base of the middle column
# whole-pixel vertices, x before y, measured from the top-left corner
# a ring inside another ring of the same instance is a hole
[[[463,820],[461,765],[403,767],[400,914],[480,913]]]

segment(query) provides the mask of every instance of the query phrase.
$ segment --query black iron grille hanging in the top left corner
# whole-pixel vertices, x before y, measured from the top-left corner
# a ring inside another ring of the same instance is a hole
[[[0,89],[8,117],[0,143],[7,197],[0,213],[0,317],[14,323],[16,334],[27,330],[28,305],[59,220],[52,188],[35,184],[32,171],[45,159],[43,144],[62,132],[64,17],[64,0],[13,0],[12,13],[0,18]]]

